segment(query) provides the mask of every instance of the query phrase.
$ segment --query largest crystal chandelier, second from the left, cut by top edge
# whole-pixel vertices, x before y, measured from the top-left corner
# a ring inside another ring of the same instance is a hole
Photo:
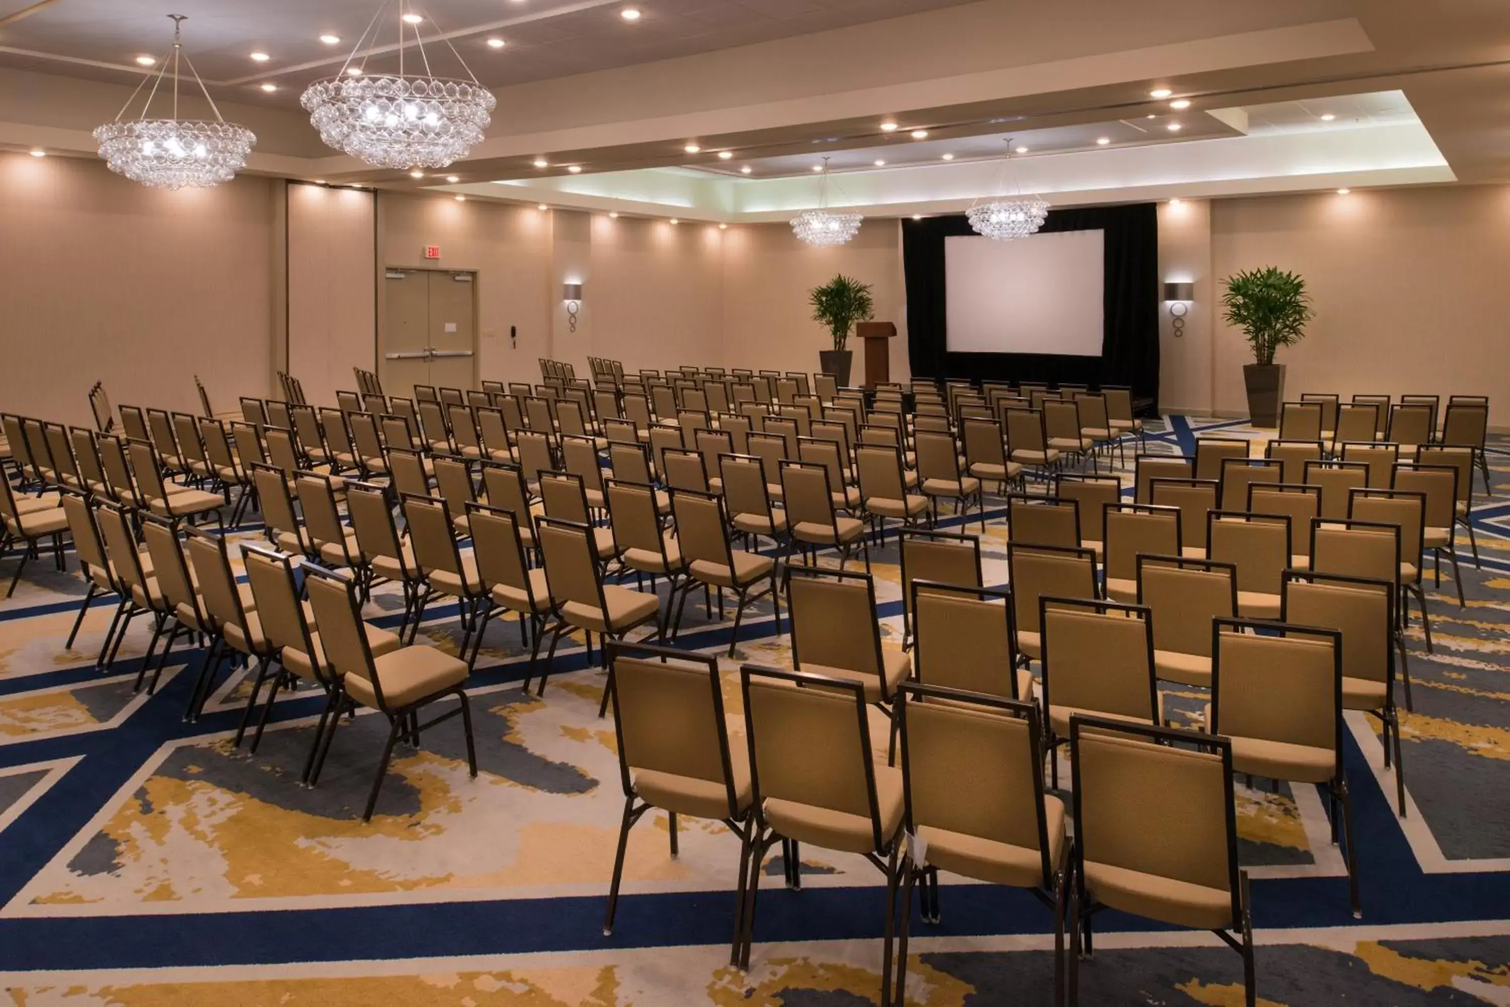
[[[378,41],[378,24],[390,3],[384,3],[356,48],[335,77],[317,80],[299,98],[320,139],[335,149],[358,157],[374,168],[445,168],[465,157],[482,140],[498,106],[492,92],[477,83],[450,39],[468,80],[447,80],[430,74],[430,60],[420,38],[420,15],[406,0],[399,8],[399,72],[365,72],[364,45]],[[424,74],[405,74],[405,27],[414,29]],[[361,62],[358,62],[358,54]]]

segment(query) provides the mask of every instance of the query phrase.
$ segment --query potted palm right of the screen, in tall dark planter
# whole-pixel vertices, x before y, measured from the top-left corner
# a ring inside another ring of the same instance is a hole
[[[1243,329],[1253,349],[1253,362],[1243,367],[1247,386],[1247,412],[1256,427],[1279,426],[1285,400],[1285,365],[1274,362],[1274,350],[1305,338],[1306,322],[1315,317],[1306,281],[1276,266],[1234,273],[1222,281],[1226,293],[1228,325]]]

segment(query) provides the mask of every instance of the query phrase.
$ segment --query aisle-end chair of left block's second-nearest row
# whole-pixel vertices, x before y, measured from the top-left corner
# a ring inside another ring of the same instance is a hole
[[[545,562],[545,584],[556,617],[556,630],[551,633],[551,646],[545,657],[545,667],[541,669],[536,696],[545,694],[545,681],[550,678],[551,661],[556,658],[556,645],[562,634],[571,630],[581,630],[586,636],[589,658],[592,657],[593,633],[604,640],[624,639],[631,631],[654,624],[657,637],[664,640],[661,630],[666,624],[660,617],[660,598],[651,592],[602,581],[595,531],[587,524],[559,518],[536,519],[536,537],[541,542],[541,556]],[[530,678],[525,678],[525,691],[528,687]],[[604,690],[598,716],[601,717],[607,708],[609,693]]]

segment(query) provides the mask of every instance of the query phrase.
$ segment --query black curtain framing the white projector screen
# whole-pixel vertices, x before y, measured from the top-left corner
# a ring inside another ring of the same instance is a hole
[[[912,373],[974,380],[1131,385],[1158,399],[1158,210],[1051,210],[1042,231],[1105,231],[1105,335],[1101,356],[950,353],[945,340],[944,239],[974,234],[963,214],[901,222],[908,282],[908,356]]]

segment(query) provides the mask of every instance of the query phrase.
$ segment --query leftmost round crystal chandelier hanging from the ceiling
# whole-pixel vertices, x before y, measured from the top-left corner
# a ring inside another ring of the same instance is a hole
[[[153,98],[168,74],[168,59],[162,60],[157,77],[143,77],[130,100],[115,116],[94,131],[100,142],[100,157],[106,160],[110,171],[125,175],[131,181],[151,186],[154,189],[208,189],[230,181],[236,172],[246,166],[246,156],[252,152],[257,137],[245,125],[236,125],[220,118],[220,110],[214,106],[214,98],[199,79],[199,71],[187,56],[183,56],[180,30],[187,20],[181,14],[169,14],[174,20],[174,118],[148,119],[146,113],[153,107]],[[189,63],[189,72],[204,94],[214,112],[214,122],[178,118],[178,60]],[[131,107],[136,97],[153,82],[153,89],[146,94],[142,115],[137,119],[122,119],[125,110]]]

